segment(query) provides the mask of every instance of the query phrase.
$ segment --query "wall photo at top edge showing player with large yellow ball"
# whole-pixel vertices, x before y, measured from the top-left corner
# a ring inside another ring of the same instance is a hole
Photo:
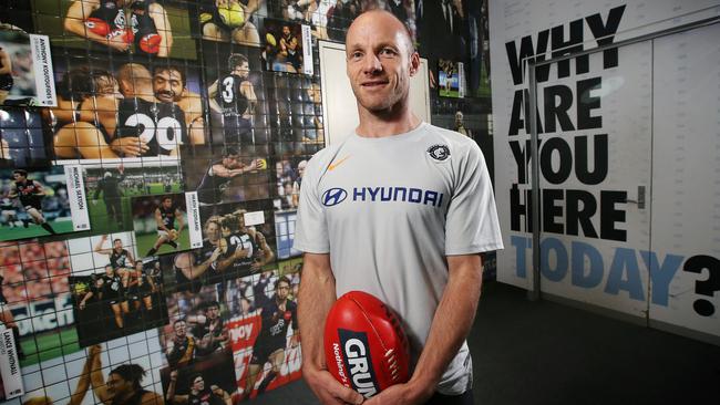
[[[202,0],[199,24],[204,40],[259,46],[255,14],[265,0]]]

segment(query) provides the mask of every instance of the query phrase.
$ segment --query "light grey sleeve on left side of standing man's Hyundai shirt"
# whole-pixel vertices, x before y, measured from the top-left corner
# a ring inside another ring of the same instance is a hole
[[[320,167],[317,156],[308,163],[300,187],[300,202],[295,222],[292,247],[307,253],[330,252],[325,207],[320,204]]]

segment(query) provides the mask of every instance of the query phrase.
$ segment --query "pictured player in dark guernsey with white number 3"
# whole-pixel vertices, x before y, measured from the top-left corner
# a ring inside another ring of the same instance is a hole
[[[210,107],[223,115],[227,144],[253,143],[253,114],[257,96],[250,82],[247,58],[233,53],[227,60],[230,73],[218,77],[208,89]]]

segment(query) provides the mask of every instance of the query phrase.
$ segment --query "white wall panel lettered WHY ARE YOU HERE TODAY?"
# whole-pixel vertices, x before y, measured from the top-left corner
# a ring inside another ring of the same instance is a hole
[[[532,282],[528,123],[534,113],[541,142],[542,290],[635,316],[655,319],[657,313],[661,322],[720,335],[720,281],[713,281],[716,273],[720,279],[720,228],[698,233],[677,226],[688,221],[709,227],[717,207],[711,202],[688,206],[682,219],[673,218],[669,207],[660,216],[654,208],[676,196],[682,181],[675,176],[682,165],[665,164],[678,152],[673,148],[692,162],[696,175],[717,168],[717,159],[708,158],[707,152],[703,156],[708,148],[717,150],[717,141],[710,139],[718,139],[717,123],[686,120],[685,127],[678,128],[679,117],[670,113],[677,105],[660,111],[658,104],[672,104],[685,93],[689,97],[685,100],[686,115],[702,100],[709,108],[707,116],[717,117],[710,110],[720,105],[718,86],[707,83],[718,82],[720,75],[698,70],[702,70],[700,65],[706,71],[717,70],[718,52],[700,48],[716,59],[698,56],[691,59],[696,63],[683,64],[678,59],[688,58],[689,50],[664,51],[664,59],[658,53],[664,42],[649,40],[555,63],[537,71],[536,112],[528,111],[525,69],[525,60],[535,55],[542,61],[611,45],[719,11],[717,1],[600,4],[580,0],[566,7],[551,1],[491,1],[495,196],[506,247],[497,252],[500,281],[523,288]],[[704,35],[706,42],[718,38],[709,32],[699,35]],[[668,41],[677,39],[668,37]],[[695,43],[680,42],[686,48]],[[695,69],[696,74],[686,74],[672,86],[658,81],[658,70],[675,71],[682,65],[688,73]],[[665,86],[661,95],[658,86]],[[707,90],[707,94],[701,92],[704,98],[690,97],[691,89],[698,86]],[[716,89],[714,93],[709,89]],[[699,139],[704,144],[697,144],[693,152],[679,146],[678,135],[703,131],[704,137]],[[712,183],[709,177],[707,181]],[[706,201],[719,200],[720,185],[716,183],[713,188],[707,181],[700,181],[706,187],[700,195],[707,195]],[[680,191],[673,201],[680,204],[688,195]],[[660,224],[665,228],[659,228]],[[667,241],[668,235],[675,239]],[[716,243],[703,245],[700,239]],[[686,270],[688,266],[697,272]],[[699,300],[701,303],[696,303]]]

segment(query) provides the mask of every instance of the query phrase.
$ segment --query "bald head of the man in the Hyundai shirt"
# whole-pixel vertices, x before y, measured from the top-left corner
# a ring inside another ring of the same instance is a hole
[[[360,14],[348,30],[346,56],[359,108],[373,115],[404,113],[420,56],[398,18],[382,10]]]

